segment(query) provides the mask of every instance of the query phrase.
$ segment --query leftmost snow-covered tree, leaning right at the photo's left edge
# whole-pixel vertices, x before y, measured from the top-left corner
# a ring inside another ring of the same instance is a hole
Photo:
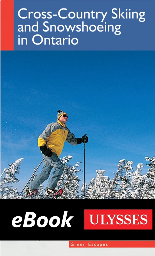
[[[19,168],[23,158],[19,158],[15,163],[8,165],[1,174],[1,198],[2,199],[15,199],[18,196],[17,188],[12,189],[10,184],[19,182],[16,174],[19,173]]]

